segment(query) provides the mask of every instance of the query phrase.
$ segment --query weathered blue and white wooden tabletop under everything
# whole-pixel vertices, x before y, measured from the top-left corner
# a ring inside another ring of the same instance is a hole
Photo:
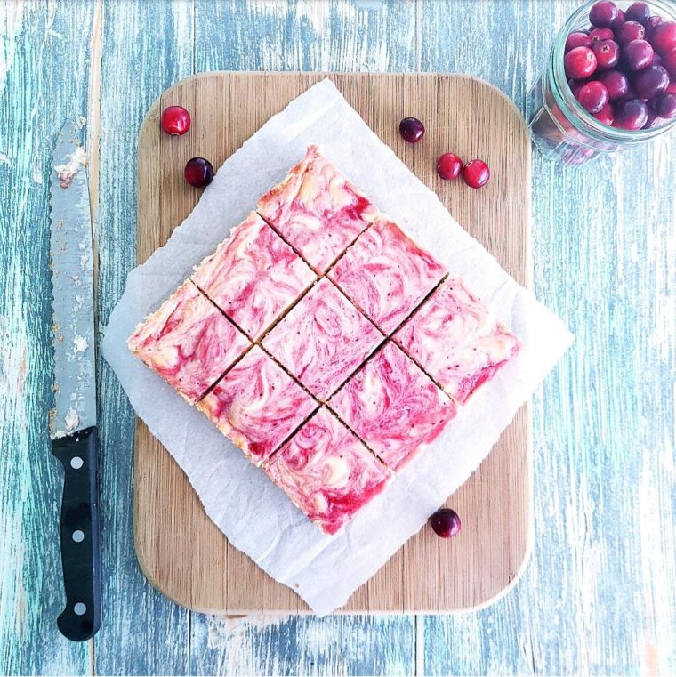
[[[165,87],[212,69],[463,72],[523,109],[576,0],[0,3],[0,673],[676,673],[676,135],[581,168],[534,156],[535,293],[576,341],[535,395],[535,550],[458,616],[218,619],[133,552],[133,412],[100,363],[105,620],[56,630],[47,179],[84,115],[101,330],[135,261],[135,144]]]

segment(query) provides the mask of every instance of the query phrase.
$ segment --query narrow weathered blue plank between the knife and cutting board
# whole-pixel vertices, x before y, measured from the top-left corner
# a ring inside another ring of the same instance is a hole
[[[133,268],[136,139],[141,120],[166,86],[193,70],[192,5],[104,3],[101,54],[101,176],[97,227],[99,311],[105,326]],[[180,674],[189,665],[189,613],[153,590],[133,550],[134,417],[101,360],[104,622],[95,672]]]

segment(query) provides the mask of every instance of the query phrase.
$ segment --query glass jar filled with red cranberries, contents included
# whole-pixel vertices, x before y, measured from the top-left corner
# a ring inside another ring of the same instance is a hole
[[[676,125],[676,4],[591,0],[556,36],[528,93],[545,157],[582,165]]]

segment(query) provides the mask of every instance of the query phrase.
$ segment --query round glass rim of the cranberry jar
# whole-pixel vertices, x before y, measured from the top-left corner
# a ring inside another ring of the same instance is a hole
[[[557,104],[564,111],[568,122],[575,127],[578,132],[586,134],[596,141],[606,141],[608,143],[638,143],[654,139],[662,133],[668,132],[676,125],[676,117],[666,120],[662,125],[650,127],[649,129],[628,130],[619,127],[610,127],[603,125],[599,120],[583,109],[574,94],[571,92],[566,77],[566,71],[563,65],[563,57],[566,53],[566,39],[571,32],[575,32],[578,23],[585,16],[589,15],[591,7],[597,0],[587,0],[585,4],[573,12],[559,30],[559,34],[554,40],[551,48],[550,68],[548,78],[550,80],[551,92],[553,93]],[[619,4],[619,3],[616,3]],[[629,3],[631,4],[631,3]],[[666,15],[667,20],[676,21],[676,11],[674,4],[666,0],[648,0],[650,9],[656,9],[662,16]]]

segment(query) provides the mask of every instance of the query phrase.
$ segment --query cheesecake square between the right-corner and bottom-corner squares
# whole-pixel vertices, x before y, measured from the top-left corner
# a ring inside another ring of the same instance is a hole
[[[388,341],[328,402],[392,470],[439,437],[455,402]]]

